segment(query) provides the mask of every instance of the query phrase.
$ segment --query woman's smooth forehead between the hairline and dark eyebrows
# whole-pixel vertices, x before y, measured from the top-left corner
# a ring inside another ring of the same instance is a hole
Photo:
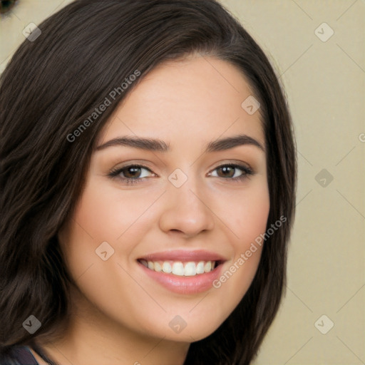
[[[163,139],[173,148],[245,133],[264,145],[259,110],[250,115],[242,108],[251,95],[245,76],[226,61],[195,57],[162,63],[118,106],[100,142],[138,135]]]

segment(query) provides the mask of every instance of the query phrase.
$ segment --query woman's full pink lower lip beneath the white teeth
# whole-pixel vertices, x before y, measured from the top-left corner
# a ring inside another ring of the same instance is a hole
[[[138,262],[141,269],[156,282],[160,283],[163,287],[178,294],[197,294],[206,292],[212,288],[212,282],[220,276],[222,271],[222,264],[218,265],[211,272],[205,272],[204,274],[197,274],[192,277],[183,277],[175,274],[166,274],[164,272],[156,272],[155,270],[148,269],[145,265]]]

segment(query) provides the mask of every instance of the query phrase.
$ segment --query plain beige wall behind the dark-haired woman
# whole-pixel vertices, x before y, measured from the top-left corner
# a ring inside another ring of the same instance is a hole
[[[24,27],[70,2],[20,0],[1,16],[0,73]],[[221,2],[277,69],[298,148],[287,294],[255,365],[365,364],[365,1]]]

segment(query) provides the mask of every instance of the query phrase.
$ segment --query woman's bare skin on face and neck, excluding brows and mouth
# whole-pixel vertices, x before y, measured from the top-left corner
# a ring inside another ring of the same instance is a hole
[[[183,364],[189,344],[212,334],[239,304],[257,271],[258,245],[219,288],[196,294],[171,292],[146,275],[137,259],[167,250],[208,250],[225,258],[223,274],[265,232],[264,151],[246,144],[204,153],[207,143],[242,134],[264,146],[259,112],[250,115],[241,106],[250,95],[235,66],[195,56],[154,68],[115,110],[97,145],[128,135],[158,138],[171,151],[113,145],[93,152],[85,189],[58,235],[78,287],[71,292],[66,336],[46,346],[55,359]],[[108,176],[133,163],[150,169],[140,170],[138,183],[127,185],[123,174]],[[234,181],[219,169],[230,163],[254,173]],[[187,178],[180,187],[168,179],[176,169]],[[113,252],[105,261],[96,253],[102,242],[112,247],[104,246],[108,256]],[[173,319],[186,327],[175,331]]]

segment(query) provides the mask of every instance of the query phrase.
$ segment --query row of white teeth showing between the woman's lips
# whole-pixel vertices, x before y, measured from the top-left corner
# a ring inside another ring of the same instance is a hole
[[[165,273],[173,274],[179,277],[194,277],[201,274],[207,274],[217,268],[222,261],[149,261],[146,259],[138,259],[140,264],[147,267],[148,269]]]

